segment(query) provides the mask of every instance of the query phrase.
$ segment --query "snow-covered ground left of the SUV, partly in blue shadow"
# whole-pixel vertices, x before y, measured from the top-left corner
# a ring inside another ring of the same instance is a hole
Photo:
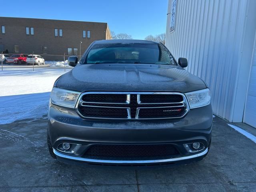
[[[66,72],[70,69],[66,69]],[[4,68],[0,71],[0,124],[47,114],[50,91],[63,68]]]

